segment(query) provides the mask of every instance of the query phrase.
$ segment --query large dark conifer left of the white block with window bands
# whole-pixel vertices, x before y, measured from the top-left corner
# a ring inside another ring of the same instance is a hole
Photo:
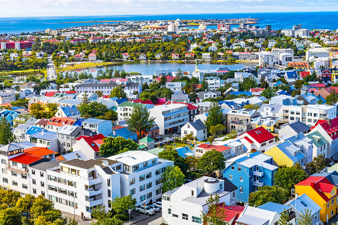
[[[128,129],[137,132],[142,136],[142,131],[150,129],[154,124],[155,118],[150,117],[150,113],[145,106],[137,104],[134,110],[129,114],[129,120],[126,124]]]

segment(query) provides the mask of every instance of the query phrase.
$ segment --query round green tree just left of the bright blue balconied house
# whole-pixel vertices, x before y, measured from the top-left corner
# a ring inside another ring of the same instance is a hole
[[[197,168],[202,173],[209,173],[209,176],[216,170],[225,168],[225,158],[221,152],[215,149],[205,152],[198,161]]]

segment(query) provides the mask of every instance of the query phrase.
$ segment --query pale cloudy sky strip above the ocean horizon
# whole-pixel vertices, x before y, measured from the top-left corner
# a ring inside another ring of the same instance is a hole
[[[331,11],[337,0],[1,0],[1,17]]]

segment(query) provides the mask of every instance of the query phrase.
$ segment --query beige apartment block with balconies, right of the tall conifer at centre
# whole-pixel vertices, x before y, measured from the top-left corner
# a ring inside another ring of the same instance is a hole
[[[255,109],[245,109],[242,107],[233,108],[227,113],[227,133],[231,131],[246,132],[251,130],[251,119],[259,117],[261,114]]]

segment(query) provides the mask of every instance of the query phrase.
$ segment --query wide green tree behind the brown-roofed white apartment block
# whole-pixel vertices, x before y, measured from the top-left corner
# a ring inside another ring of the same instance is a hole
[[[112,136],[103,139],[103,144],[100,147],[100,154],[102,157],[109,157],[120,154],[126,151],[136,151],[139,145],[131,139],[123,137],[113,138]]]

